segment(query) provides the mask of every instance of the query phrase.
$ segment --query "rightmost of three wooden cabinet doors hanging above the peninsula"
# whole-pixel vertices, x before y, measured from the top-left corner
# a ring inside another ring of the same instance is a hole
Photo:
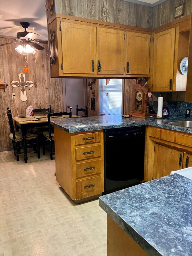
[[[149,74],[150,35],[127,32],[126,74]]]

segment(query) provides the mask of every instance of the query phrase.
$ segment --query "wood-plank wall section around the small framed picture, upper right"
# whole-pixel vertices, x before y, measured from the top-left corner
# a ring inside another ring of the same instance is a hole
[[[175,19],[175,8],[184,3],[184,16]],[[191,0],[167,0],[153,7],[153,28],[191,15]]]

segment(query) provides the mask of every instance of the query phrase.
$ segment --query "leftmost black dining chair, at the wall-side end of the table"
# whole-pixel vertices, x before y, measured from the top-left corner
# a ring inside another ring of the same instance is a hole
[[[10,132],[11,132],[9,137],[12,140],[14,155],[16,156],[17,161],[19,161],[19,154],[23,153],[21,152],[21,149],[23,149],[22,134],[20,131],[15,131],[15,128],[13,125],[13,116],[9,107],[7,107],[7,117],[8,117]],[[27,143],[27,148],[33,147],[33,151],[29,151],[28,153],[32,153],[32,152],[38,153],[38,158],[41,158],[38,135],[27,133],[26,139],[27,139],[27,142],[32,141],[32,143]]]

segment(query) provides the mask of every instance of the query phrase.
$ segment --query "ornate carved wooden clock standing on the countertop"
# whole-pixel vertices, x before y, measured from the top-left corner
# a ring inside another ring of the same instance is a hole
[[[138,80],[133,90],[133,105],[131,115],[135,117],[149,118],[147,113],[148,84],[144,80]]]

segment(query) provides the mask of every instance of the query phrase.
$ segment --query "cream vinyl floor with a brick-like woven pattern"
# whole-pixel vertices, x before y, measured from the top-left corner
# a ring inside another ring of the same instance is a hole
[[[75,205],[49,153],[0,153],[0,256],[106,256],[107,215],[98,199]]]

